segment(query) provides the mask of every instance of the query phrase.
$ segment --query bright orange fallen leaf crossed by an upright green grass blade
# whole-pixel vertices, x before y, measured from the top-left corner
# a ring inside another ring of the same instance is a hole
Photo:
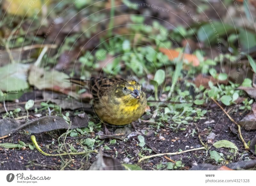
[[[160,52],[163,52],[168,58],[173,61],[175,58],[180,56],[180,52],[176,50],[168,50],[164,48],[159,48]],[[193,54],[184,54],[184,59],[187,60],[189,63],[192,63],[193,66],[199,66],[200,62],[198,58]]]

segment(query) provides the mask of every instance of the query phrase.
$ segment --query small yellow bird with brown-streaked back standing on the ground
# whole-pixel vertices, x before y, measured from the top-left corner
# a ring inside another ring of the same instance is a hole
[[[147,98],[140,83],[135,80],[91,77],[89,82],[76,78],[70,78],[69,81],[82,87],[89,86],[94,99],[92,108],[104,124],[105,134],[109,134],[105,122],[122,126],[138,120],[145,112]]]

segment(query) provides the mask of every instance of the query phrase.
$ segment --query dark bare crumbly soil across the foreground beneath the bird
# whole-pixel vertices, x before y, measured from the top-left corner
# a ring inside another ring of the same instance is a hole
[[[203,142],[207,142],[206,137],[210,133],[210,131],[212,131],[216,134],[214,142],[223,139],[231,141],[236,144],[236,146],[239,149],[239,153],[237,153],[235,157],[232,157],[232,153],[230,153],[228,149],[216,149],[212,146],[212,144],[208,144],[209,146],[211,146],[211,150],[223,153],[224,157],[230,155],[231,158],[227,159],[229,160],[229,162],[236,162],[248,158],[254,159],[254,157],[252,157],[252,153],[244,151],[243,144],[241,143],[239,137],[235,134],[237,127],[234,127],[234,124],[228,119],[226,115],[223,114],[220,108],[215,109],[215,111],[216,114],[215,112],[209,112],[207,119],[200,120],[198,121],[198,123],[196,123],[197,127],[201,131],[200,134]],[[214,113],[214,115],[212,113]],[[243,115],[233,113],[232,117],[235,120],[239,120],[243,117]],[[234,129],[231,131],[230,127],[234,127]],[[152,130],[152,128],[148,127],[148,124],[138,126],[137,131],[141,132],[141,129]],[[154,149],[155,151],[159,151],[160,153],[177,152],[180,149],[184,151],[192,148],[202,147],[202,144],[198,140],[197,134],[195,133],[194,136],[191,135],[193,129],[195,129],[195,123],[189,124],[186,130],[183,131],[173,131],[173,129],[162,127],[158,130],[155,130],[157,132],[156,136],[153,132],[146,135],[145,142],[148,148]],[[134,129],[132,128],[131,130],[134,131]],[[63,133],[64,132],[65,131],[63,131]],[[248,142],[252,140],[253,137],[255,136],[255,131],[248,132],[242,129],[242,134],[244,136],[245,141]],[[58,135],[59,134],[54,134],[54,132],[45,132],[35,136],[37,139],[37,143],[45,152],[56,153],[54,150],[58,149],[58,141],[55,139],[54,143],[52,144],[52,140],[54,136]],[[1,139],[0,143],[17,143],[19,140],[25,143],[31,143],[30,135],[26,134],[26,132],[23,131],[12,133],[10,137]],[[71,141],[73,140],[67,140],[66,142],[70,143]],[[103,151],[104,155],[112,156],[123,163],[123,159],[130,155],[129,158],[133,158],[130,159],[129,163],[136,164],[138,162],[138,154],[140,152],[141,147],[138,146],[137,137],[130,138],[129,141],[127,142],[118,141],[118,145],[111,145],[109,143],[109,140],[107,139],[105,140],[104,144],[108,145],[112,149],[108,151]],[[45,146],[47,146],[48,148],[45,148]],[[79,146],[75,148],[79,148]],[[98,147],[96,147],[96,149],[98,150]],[[118,152],[117,155],[116,151]],[[143,151],[143,154],[152,155],[155,154],[155,152],[153,151],[151,154],[149,154],[149,151]],[[84,158],[84,156],[72,156],[72,161],[68,163],[65,170],[88,169],[91,163],[95,161],[95,157],[96,154],[91,154],[91,158],[89,158],[88,162],[86,162],[86,158]],[[206,155],[205,150],[191,151],[180,155],[174,155],[171,158],[174,161],[182,160],[184,166],[180,168],[181,170],[188,170],[196,163],[211,163],[216,165],[216,162],[210,158],[209,151]],[[61,164],[65,162],[65,159],[67,161],[70,160],[68,156],[63,156],[62,158],[44,156],[36,149],[30,150],[29,148],[26,148],[25,150],[19,150],[0,148],[1,170],[60,170]],[[156,169],[156,165],[162,162],[168,162],[168,160],[165,159],[163,156],[155,157],[144,160],[139,164],[139,166],[144,170],[152,170]]]

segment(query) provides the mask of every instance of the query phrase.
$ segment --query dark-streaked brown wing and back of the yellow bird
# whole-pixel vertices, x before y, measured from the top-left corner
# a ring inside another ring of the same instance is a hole
[[[90,91],[93,98],[99,101],[99,97],[106,96],[112,86],[116,86],[120,81],[124,81],[122,78],[109,78],[109,77],[99,77],[90,79]]]

